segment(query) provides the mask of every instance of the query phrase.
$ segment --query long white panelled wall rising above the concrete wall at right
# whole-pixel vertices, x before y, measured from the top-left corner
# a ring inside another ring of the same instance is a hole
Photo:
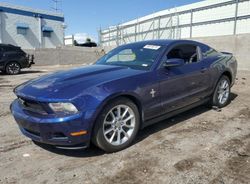
[[[166,2],[167,3],[167,2]],[[100,30],[102,46],[250,33],[249,0],[206,0]]]

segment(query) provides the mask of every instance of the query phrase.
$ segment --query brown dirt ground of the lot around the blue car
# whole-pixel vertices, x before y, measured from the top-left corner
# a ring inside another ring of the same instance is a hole
[[[140,131],[114,154],[91,146],[40,147],[21,135],[10,114],[13,87],[70,67],[0,74],[0,183],[250,183],[250,72],[239,71],[231,104],[198,107]]]

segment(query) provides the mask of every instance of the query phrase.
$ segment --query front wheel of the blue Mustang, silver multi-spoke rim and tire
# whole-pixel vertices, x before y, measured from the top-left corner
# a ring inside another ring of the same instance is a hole
[[[120,151],[132,144],[139,124],[137,106],[127,98],[116,99],[105,106],[98,116],[92,142],[105,152]]]

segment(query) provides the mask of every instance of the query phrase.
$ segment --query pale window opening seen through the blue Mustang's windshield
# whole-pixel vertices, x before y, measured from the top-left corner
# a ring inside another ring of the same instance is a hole
[[[131,49],[125,49],[107,60],[110,62],[131,62],[136,59],[135,53]]]

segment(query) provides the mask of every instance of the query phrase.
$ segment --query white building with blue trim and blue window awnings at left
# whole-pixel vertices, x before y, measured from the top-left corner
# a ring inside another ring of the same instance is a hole
[[[23,49],[61,46],[64,44],[64,16],[0,3],[0,43]]]

